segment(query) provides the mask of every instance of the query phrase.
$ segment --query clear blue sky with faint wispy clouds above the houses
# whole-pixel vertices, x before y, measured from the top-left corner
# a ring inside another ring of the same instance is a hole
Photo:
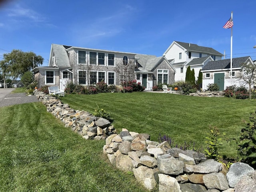
[[[5,0],[0,1],[0,60],[13,49],[48,65],[51,44],[162,56],[176,40],[256,60],[256,1]]]

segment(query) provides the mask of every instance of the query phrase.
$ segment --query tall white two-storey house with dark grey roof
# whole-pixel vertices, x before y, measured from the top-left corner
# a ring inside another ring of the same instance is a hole
[[[221,60],[222,54],[213,48],[174,41],[163,54],[175,68],[175,81],[185,81],[188,66],[198,78],[200,69],[209,61]]]

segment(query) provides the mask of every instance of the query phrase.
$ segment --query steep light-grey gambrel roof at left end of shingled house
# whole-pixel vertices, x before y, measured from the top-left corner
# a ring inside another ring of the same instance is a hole
[[[49,59],[49,66],[52,61],[53,53],[54,53],[56,64],[58,67],[60,68],[70,67],[68,53],[66,52],[66,49],[64,48],[64,46],[58,45],[58,44],[52,44],[51,54]]]

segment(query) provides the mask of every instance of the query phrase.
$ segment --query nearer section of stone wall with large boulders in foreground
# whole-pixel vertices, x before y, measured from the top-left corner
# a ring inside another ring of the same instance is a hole
[[[256,192],[256,171],[248,164],[226,166],[192,150],[150,141],[123,129],[106,139],[103,153],[119,170],[133,172],[148,190],[159,192]]]

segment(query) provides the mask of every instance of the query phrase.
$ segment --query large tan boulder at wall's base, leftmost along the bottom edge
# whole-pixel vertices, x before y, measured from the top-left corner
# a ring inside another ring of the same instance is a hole
[[[146,166],[133,168],[136,180],[148,190],[152,190],[158,183],[158,169],[151,169]]]

